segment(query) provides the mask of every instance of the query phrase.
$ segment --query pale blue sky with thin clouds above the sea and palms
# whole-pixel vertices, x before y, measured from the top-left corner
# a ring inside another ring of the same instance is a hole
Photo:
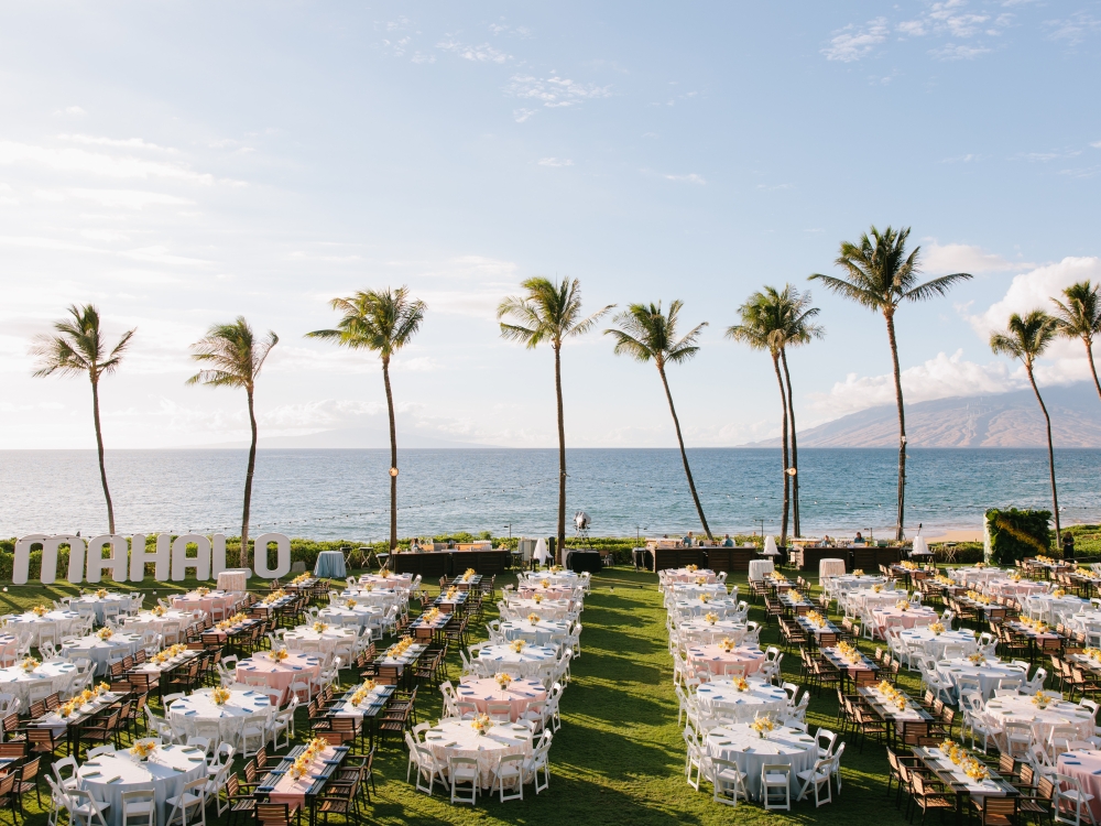
[[[304,334],[403,284],[428,309],[400,428],[550,446],[553,354],[495,319],[532,275],[590,311],[682,300],[709,325],[669,371],[686,443],[772,437],[770,359],[723,336],[765,284],[821,308],[791,356],[800,428],[893,402],[882,316],[807,281],[872,225],[974,275],[900,311],[907,401],[1018,389],[990,332],[1101,280],[1099,51],[1090,0],[7,3],[0,448],[95,446],[87,382],[32,378],[29,351],[86,302],[137,328],[108,448],[247,438],[242,391],[184,383],[238,315],[280,336],[262,436],[381,427],[378,359]],[[568,444],[675,445],[610,319],[564,348]],[[1086,379],[1081,344],[1038,374]]]

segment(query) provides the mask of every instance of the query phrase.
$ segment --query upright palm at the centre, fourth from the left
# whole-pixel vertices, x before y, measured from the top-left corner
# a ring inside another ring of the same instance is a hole
[[[582,336],[596,326],[614,304],[609,304],[587,318],[581,317],[581,283],[550,281],[536,275],[521,283],[523,295],[510,295],[497,308],[498,318],[511,318],[515,324],[501,323],[501,335],[534,349],[543,341],[554,350],[554,385],[558,396],[558,561],[565,558],[566,546],[566,421],[562,410],[562,346],[567,338]]]

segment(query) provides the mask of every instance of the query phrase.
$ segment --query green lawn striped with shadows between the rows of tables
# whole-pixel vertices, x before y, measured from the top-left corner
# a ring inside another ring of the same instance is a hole
[[[498,579],[500,587],[509,578]],[[744,594],[744,575],[737,577]],[[105,583],[105,587],[112,584]],[[141,588],[153,601],[153,591],[165,597],[194,587],[194,582],[151,583]],[[118,587],[131,589],[129,584]],[[9,586],[0,593],[6,611],[25,609],[37,601],[73,595],[75,586]],[[486,621],[493,619],[488,610]],[[763,621],[761,606],[753,606],[751,619]],[[677,727],[673,692],[672,660],[665,633],[665,610],[657,578],[653,574],[611,568],[593,577],[592,594],[581,615],[581,657],[573,665],[573,683],[562,702],[562,730],[550,749],[550,787],[535,795],[528,785],[523,802],[504,805],[488,796],[475,808],[451,806],[437,791],[428,797],[405,782],[404,743],[391,740],[375,760],[378,795],[366,812],[369,822],[380,824],[720,824],[732,819],[749,823],[847,824],[874,819],[877,824],[901,824],[902,814],[889,802],[886,757],[882,746],[868,742],[863,753],[851,742],[842,758],[843,790],[835,803],[815,809],[814,803],[794,804],[791,815],[768,813],[757,805],[741,804],[735,812],[711,801],[709,785],[695,792],[684,780],[685,749]],[[476,629],[476,639],[484,629]],[[778,642],[776,626],[766,627],[762,645]],[[870,651],[866,642],[861,643]],[[451,655],[450,675],[458,680],[458,656]],[[798,657],[784,659],[785,678],[797,681]],[[345,672],[344,682],[355,680]],[[902,687],[916,696],[917,678],[904,674]],[[418,693],[421,720],[435,721],[440,715],[439,693]],[[811,731],[819,725],[833,728],[837,703],[822,693],[811,699],[807,721]],[[298,740],[309,727],[299,711]],[[45,783],[43,782],[43,789]],[[705,791],[706,790],[706,791]],[[30,826],[45,826],[33,794],[26,811]],[[217,823],[208,812],[210,823]],[[226,819],[226,818],[222,818]],[[335,823],[339,823],[336,818]]]

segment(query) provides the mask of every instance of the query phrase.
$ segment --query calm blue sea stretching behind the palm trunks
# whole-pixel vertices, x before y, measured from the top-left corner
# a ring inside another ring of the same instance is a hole
[[[1047,456],[1034,449],[913,449],[906,524],[925,533],[981,529],[990,507],[1050,507]],[[240,528],[244,450],[113,450],[108,478],[121,533]],[[694,449],[689,460],[711,530],[778,532],[776,449]],[[799,452],[803,531],[894,523],[897,454],[891,449]],[[260,450],[252,531],[314,539],[383,539],[389,531],[388,450]],[[401,535],[555,530],[557,452],[403,450]],[[698,530],[675,449],[569,450],[567,517],[584,509],[593,535]],[[1101,519],[1101,450],[1056,452],[1065,522]],[[94,452],[0,452],[0,535],[106,532]]]

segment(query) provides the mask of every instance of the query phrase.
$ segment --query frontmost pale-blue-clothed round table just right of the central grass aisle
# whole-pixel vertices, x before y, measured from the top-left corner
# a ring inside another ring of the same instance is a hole
[[[764,765],[791,765],[792,800],[799,791],[796,774],[813,769],[818,759],[818,743],[815,738],[797,728],[780,728],[762,738],[750,728],[749,722],[719,726],[705,738],[709,757],[730,760],[745,772],[745,785],[753,800],[761,800],[761,768]]]

